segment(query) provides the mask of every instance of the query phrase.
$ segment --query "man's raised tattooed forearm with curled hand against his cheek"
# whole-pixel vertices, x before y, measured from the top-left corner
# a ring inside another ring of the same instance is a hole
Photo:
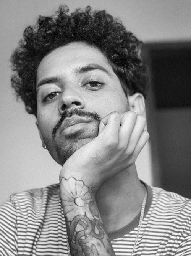
[[[99,134],[76,150],[60,172],[60,197],[71,255],[115,255],[95,202],[108,178],[134,164],[149,139],[146,120],[128,111],[112,112],[99,124]],[[94,188],[94,189],[93,189]]]

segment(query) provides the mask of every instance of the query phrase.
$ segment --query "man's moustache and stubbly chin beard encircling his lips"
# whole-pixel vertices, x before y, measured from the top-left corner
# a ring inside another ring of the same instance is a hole
[[[72,117],[73,115],[79,117],[88,117],[91,119],[91,123],[87,123],[87,127],[77,132],[68,134],[67,136],[58,135],[58,130],[62,125],[62,122],[66,117]],[[66,160],[79,148],[93,140],[98,135],[100,116],[95,112],[85,112],[81,109],[72,109],[70,112],[65,112],[56,126],[52,130],[52,142],[55,146],[56,158],[52,155],[53,159],[58,164],[63,165]]]

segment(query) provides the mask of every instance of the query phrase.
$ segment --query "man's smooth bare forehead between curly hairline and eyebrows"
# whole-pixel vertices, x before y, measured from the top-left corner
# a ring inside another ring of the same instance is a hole
[[[94,63],[112,72],[107,58],[97,48],[86,43],[70,43],[47,54],[37,69],[37,83],[47,76],[73,73],[76,68]]]

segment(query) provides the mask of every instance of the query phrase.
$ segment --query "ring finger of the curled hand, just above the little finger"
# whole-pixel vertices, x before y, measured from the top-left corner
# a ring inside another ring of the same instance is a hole
[[[138,115],[137,119],[136,119],[135,126],[134,126],[133,131],[131,132],[131,136],[129,138],[129,143],[128,143],[128,147],[131,148],[132,150],[135,149],[145,126],[146,126],[146,118],[142,115]]]

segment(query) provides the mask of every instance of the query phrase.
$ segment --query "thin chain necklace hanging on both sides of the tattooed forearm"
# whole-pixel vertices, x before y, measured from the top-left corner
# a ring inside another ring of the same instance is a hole
[[[142,201],[141,215],[140,215],[140,219],[139,219],[138,231],[137,231],[136,238],[135,238],[135,241],[134,241],[134,246],[133,246],[133,251],[131,253],[131,256],[134,256],[135,249],[136,249],[136,246],[137,246],[137,243],[138,243],[138,238],[139,238],[139,234],[140,234],[140,230],[141,230],[141,226],[142,226],[142,220],[143,220],[143,217],[144,217],[144,210],[145,210],[146,201],[147,201],[147,190],[146,190],[146,187],[144,185],[143,185],[143,187],[145,189],[145,194],[144,194],[144,198],[143,198],[143,201]],[[68,242],[68,236],[66,236],[66,242],[67,242],[68,256],[71,256],[70,246],[69,246],[69,242]]]

